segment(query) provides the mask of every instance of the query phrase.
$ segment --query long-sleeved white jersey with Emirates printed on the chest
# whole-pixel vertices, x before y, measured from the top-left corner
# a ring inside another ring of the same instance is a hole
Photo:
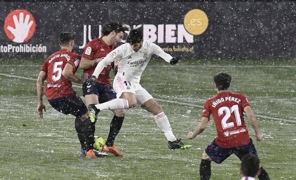
[[[167,62],[170,62],[173,58],[171,55],[165,53],[158,45],[149,41],[143,41],[143,45],[138,52],[134,52],[129,43],[125,43],[111,51],[100,61],[93,75],[98,77],[107,64],[120,59],[117,75],[123,75],[134,83],[140,83],[143,71],[152,55],[157,55]]]

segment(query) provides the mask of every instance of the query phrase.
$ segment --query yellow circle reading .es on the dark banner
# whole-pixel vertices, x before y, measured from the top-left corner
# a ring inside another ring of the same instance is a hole
[[[200,9],[192,9],[184,18],[184,27],[192,35],[202,34],[208,27],[209,19],[205,12]]]

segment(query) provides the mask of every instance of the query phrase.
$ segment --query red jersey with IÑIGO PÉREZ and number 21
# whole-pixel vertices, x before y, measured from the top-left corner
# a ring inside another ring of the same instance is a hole
[[[208,99],[204,104],[202,117],[213,119],[216,124],[216,143],[222,148],[247,145],[249,131],[244,121],[244,108],[250,106],[246,96],[241,93],[222,91]]]

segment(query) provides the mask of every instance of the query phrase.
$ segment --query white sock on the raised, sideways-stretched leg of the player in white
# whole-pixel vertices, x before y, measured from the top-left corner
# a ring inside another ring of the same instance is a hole
[[[128,109],[128,100],[126,99],[112,99],[111,101],[104,102],[102,104],[96,104],[96,108],[102,110],[116,110],[116,109]]]

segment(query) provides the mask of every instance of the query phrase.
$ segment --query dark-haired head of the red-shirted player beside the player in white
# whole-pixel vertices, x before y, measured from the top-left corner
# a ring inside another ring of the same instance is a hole
[[[107,41],[105,43],[108,45],[116,46],[117,43],[121,42],[126,30],[129,30],[129,28],[122,26],[121,23],[108,21],[102,27],[102,37],[105,36],[104,41]]]

